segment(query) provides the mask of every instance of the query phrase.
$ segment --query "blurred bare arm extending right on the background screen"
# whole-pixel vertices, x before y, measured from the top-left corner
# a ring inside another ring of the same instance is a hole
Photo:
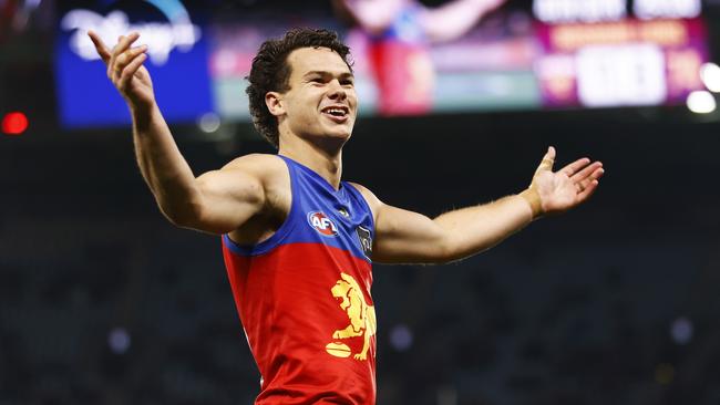
[[[455,0],[435,9],[425,9],[420,22],[434,42],[452,41],[464,35],[488,12],[505,0]]]

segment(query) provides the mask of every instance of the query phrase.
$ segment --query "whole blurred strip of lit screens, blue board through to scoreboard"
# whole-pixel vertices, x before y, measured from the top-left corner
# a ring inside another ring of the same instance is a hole
[[[678,104],[703,89],[699,71],[709,61],[700,0],[331,2],[335,14],[246,6],[237,18],[169,0],[63,2],[55,51],[62,124],[130,122],[88,30],[109,44],[141,32],[171,123],[207,113],[248,121],[245,76],[255,52],[298,25],[336,30],[351,46],[361,115]]]

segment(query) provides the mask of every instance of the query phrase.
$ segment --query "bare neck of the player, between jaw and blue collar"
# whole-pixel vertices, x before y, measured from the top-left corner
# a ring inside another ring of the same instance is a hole
[[[322,178],[337,190],[340,188],[342,177],[342,147],[322,148],[299,137],[280,144],[278,155],[291,158],[302,164]]]

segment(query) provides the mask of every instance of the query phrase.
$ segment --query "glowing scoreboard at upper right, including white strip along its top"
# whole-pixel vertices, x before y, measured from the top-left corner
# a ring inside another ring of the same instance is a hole
[[[536,0],[542,54],[536,76],[546,106],[683,103],[703,89],[709,61],[699,0]]]

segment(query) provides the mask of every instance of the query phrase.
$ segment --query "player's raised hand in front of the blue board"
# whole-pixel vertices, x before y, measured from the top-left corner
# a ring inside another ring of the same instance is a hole
[[[107,77],[125,98],[130,108],[133,111],[150,108],[155,103],[155,94],[150,73],[143,66],[143,62],[147,59],[145,53],[147,45],[131,48],[140,34],[133,32],[127,37],[120,37],[112,50],[107,49],[97,33],[88,31],[88,35],[107,66]]]

